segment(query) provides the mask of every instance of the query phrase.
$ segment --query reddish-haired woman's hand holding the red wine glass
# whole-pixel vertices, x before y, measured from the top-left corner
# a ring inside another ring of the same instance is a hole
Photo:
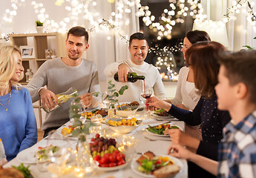
[[[163,108],[165,111],[169,111],[171,108],[171,104],[168,102],[165,102],[156,96],[150,97],[145,102],[146,110],[153,111],[154,108]]]

